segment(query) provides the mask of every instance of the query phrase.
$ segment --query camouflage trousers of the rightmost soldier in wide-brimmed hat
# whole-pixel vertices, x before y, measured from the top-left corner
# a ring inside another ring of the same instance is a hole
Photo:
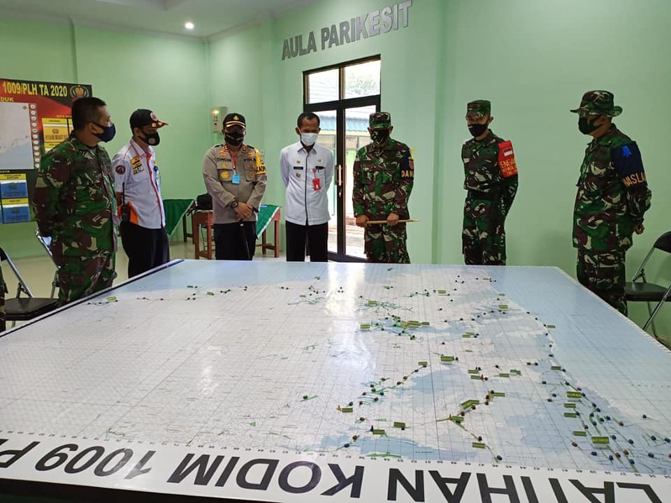
[[[577,278],[580,284],[626,316],[624,258],[623,251],[605,253],[579,248]]]

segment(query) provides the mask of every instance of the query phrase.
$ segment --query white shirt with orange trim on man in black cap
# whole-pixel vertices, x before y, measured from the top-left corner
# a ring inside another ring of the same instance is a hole
[[[131,222],[154,229],[166,226],[161,178],[155,159],[152,147],[145,152],[134,140],[112,159],[115,191],[125,193],[125,201],[131,205]]]

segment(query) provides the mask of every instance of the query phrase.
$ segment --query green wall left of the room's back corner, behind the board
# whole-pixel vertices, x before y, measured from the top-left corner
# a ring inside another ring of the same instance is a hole
[[[68,24],[0,17],[3,78],[82,82],[108,103],[117,126],[105,145],[113,156],[131,136],[136,108],[150,108],[170,125],[161,130],[157,163],[164,198],[205,191],[203,152],[210,145],[206,43]],[[0,226],[13,256],[41,256],[35,224]]]

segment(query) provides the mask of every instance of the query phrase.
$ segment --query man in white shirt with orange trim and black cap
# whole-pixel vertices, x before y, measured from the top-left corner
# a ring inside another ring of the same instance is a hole
[[[128,277],[170,261],[161,180],[152,146],[159,145],[159,129],[167,126],[154,112],[140,108],[131,115],[133,138],[112,160],[121,240],[128,256]]]

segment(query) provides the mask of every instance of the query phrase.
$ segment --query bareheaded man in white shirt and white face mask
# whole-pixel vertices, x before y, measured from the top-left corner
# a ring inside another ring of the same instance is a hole
[[[311,112],[298,116],[298,143],[282,149],[280,168],[287,188],[284,205],[287,228],[287,261],[305,261],[305,245],[311,262],[328,261],[329,197],[333,181],[333,154],[317,145],[319,117]]]

